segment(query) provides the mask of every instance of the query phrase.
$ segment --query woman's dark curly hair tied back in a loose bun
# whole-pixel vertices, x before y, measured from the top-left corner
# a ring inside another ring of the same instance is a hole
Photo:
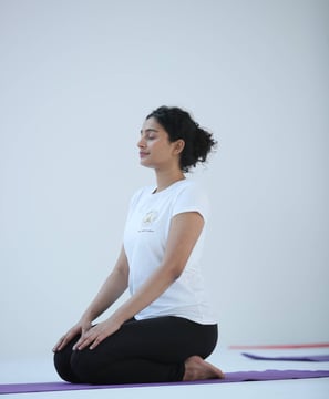
[[[177,106],[160,106],[150,115],[168,133],[169,141],[184,140],[185,146],[181,154],[181,168],[188,172],[191,167],[195,167],[197,163],[206,161],[209,152],[216,146],[217,142],[213,134],[202,129],[188,112]]]

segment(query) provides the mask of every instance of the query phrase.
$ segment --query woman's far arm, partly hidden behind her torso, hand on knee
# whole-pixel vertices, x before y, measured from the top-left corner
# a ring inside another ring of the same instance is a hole
[[[81,316],[81,319],[56,342],[53,351],[63,349],[78,334],[81,338],[91,329],[92,321],[105,311],[125,291],[128,282],[128,264],[121,249],[113,272],[109,275],[100,291]]]

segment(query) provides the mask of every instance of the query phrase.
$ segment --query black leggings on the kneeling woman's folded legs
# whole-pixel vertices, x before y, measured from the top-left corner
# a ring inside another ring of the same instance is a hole
[[[72,350],[76,336],[54,355],[60,377],[75,383],[182,381],[185,360],[208,357],[217,344],[217,325],[181,317],[131,319],[95,349]]]

